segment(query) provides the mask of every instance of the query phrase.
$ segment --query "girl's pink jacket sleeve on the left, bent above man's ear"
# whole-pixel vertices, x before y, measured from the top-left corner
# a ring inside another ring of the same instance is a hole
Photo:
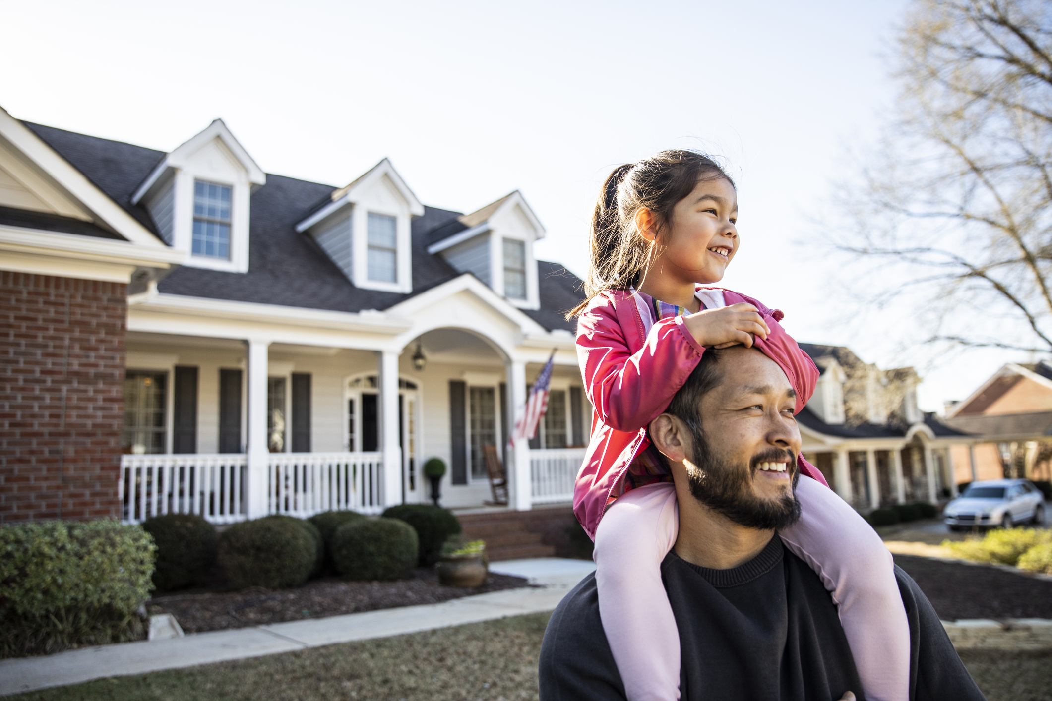
[[[682,316],[651,327],[646,341],[631,352],[628,334],[635,326],[630,300],[615,309],[612,300],[596,297],[578,319],[578,363],[588,399],[604,424],[618,431],[638,431],[665,410],[702,359],[705,348],[684,326]]]

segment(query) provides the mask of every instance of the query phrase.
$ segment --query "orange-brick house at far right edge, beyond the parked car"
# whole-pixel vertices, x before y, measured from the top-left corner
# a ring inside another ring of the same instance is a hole
[[[948,406],[946,422],[973,434],[954,449],[958,481],[1052,479],[1052,364],[1006,365]]]

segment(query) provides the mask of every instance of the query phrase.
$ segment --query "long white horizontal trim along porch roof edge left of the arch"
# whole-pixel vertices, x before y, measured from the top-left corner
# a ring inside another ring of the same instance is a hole
[[[365,331],[373,333],[397,333],[408,329],[410,323],[375,310],[361,312],[325,311],[303,307],[257,304],[255,302],[230,302],[180,294],[151,294],[143,292],[128,297],[128,307],[145,311],[187,313],[214,318],[234,318],[262,323],[308,326],[342,331]]]

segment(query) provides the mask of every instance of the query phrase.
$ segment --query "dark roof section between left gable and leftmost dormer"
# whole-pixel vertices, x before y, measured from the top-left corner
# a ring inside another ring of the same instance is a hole
[[[140,224],[157,233],[144,207],[132,204],[132,195],[166,153],[120,141],[88,137],[53,126],[22,122],[95,183]]]

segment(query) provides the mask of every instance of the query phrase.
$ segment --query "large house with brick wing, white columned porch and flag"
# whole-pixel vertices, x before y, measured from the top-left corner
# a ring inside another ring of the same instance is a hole
[[[264,173],[216,121],[171,152],[0,110],[0,520],[213,521],[491,498],[566,502],[588,439],[580,281],[520,192],[429,207],[387,160]],[[506,448],[554,351],[548,413]]]

